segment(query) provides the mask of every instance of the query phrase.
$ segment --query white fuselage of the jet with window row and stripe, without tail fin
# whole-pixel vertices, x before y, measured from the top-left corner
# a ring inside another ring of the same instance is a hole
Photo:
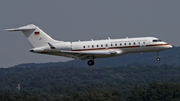
[[[49,46],[47,46],[46,48],[44,48],[44,51],[40,53],[66,56],[71,58],[77,58],[76,53],[85,53],[88,54],[88,57],[105,58],[128,53],[162,51],[172,47],[166,42],[153,42],[153,40],[159,39],[155,37],[141,37],[78,42],[61,42],[53,44],[53,46],[56,47],[56,50],[52,50],[49,48]],[[62,50],[72,52],[72,54],[75,55],[66,54],[66,52],[63,52]],[[79,59],[87,59],[88,57],[80,57]]]

